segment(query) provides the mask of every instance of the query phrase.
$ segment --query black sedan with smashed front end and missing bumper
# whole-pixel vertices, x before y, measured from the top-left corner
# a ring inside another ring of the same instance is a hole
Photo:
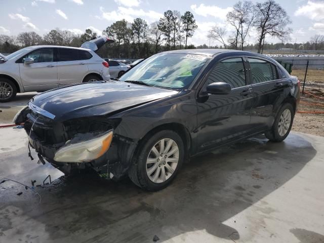
[[[15,123],[24,123],[39,158],[65,173],[128,174],[139,187],[159,190],[190,156],[262,133],[284,140],[300,99],[297,77],[245,51],[159,53],[120,81],[39,94]]]

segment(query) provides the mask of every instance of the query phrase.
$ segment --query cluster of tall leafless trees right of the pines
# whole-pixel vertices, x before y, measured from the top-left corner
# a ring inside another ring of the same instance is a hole
[[[239,1],[226,15],[226,25],[215,25],[208,33],[210,39],[218,41],[224,48],[244,50],[246,38],[252,29],[257,33],[257,50],[262,53],[266,36],[277,37],[283,43],[290,38],[292,29],[287,12],[273,0],[253,4]],[[228,31],[232,26],[233,31]]]

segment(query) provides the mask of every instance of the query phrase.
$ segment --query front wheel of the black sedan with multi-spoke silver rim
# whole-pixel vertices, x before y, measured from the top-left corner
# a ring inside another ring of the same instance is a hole
[[[167,187],[175,178],[183,158],[181,137],[171,130],[160,131],[143,140],[128,174],[139,187],[157,191]]]

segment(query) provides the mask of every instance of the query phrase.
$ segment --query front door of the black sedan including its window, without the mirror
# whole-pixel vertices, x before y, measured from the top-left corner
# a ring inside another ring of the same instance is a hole
[[[231,85],[228,95],[203,95],[197,99],[198,152],[237,140],[249,134],[254,97],[247,79],[247,65],[242,57],[223,59],[215,64],[200,90],[209,84]]]

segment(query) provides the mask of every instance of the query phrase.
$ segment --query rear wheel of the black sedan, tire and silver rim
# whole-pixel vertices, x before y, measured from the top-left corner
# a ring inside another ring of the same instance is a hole
[[[281,142],[287,138],[293,126],[294,108],[287,103],[282,105],[277,113],[271,130],[265,132],[265,137],[272,142]]]

